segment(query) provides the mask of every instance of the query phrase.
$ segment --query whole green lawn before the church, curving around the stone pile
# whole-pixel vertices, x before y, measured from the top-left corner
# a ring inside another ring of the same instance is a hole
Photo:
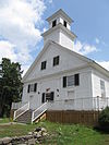
[[[46,128],[49,134],[44,138],[41,145],[109,145],[109,134],[102,134],[78,124],[60,124],[48,121],[33,125],[11,124],[0,126],[0,137],[25,135],[37,126]]]

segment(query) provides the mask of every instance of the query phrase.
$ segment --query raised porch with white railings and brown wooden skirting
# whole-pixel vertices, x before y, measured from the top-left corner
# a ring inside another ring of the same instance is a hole
[[[29,117],[32,123],[40,118],[45,112],[47,112],[47,120],[55,122],[60,122],[61,120],[61,122],[68,123],[94,123],[97,122],[99,111],[105,109],[107,106],[109,106],[109,98],[93,97],[47,101],[35,110],[31,110],[29,102],[13,102],[12,110],[15,110],[13,117],[14,120],[22,117],[27,121]],[[31,114],[28,114],[28,112]]]

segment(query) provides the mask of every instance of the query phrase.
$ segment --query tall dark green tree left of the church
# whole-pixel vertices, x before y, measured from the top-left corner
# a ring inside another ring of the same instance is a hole
[[[9,116],[12,102],[21,100],[22,73],[19,62],[2,59],[0,64],[0,117]]]

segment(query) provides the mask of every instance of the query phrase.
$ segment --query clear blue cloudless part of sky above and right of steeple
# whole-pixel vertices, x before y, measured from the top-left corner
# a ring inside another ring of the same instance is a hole
[[[60,8],[74,20],[72,32],[77,35],[77,39],[94,45],[98,49],[97,52],[88,53],[87,57],[108,61],[109,0],[53,0],[44,20]]]

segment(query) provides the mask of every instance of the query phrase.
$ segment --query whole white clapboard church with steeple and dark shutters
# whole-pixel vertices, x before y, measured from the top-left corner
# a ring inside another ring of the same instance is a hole
[[[109,71],[73,51],[72,19],[59,10],[47,21],[44,48],[23,77],[21,108],[14,118],[29,109],[33,122],[46,111],[53,116],[53,111],[97,111],[109,106]]]

